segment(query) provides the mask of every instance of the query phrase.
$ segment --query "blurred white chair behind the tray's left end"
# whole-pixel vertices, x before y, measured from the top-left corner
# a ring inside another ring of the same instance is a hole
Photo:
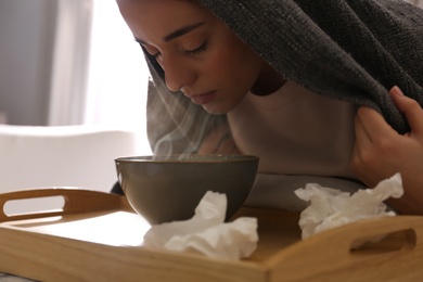
[[[148,153],[131,130],[0,125],[0,193],[43,187],[110,192],[117,181],[114,159]]]

